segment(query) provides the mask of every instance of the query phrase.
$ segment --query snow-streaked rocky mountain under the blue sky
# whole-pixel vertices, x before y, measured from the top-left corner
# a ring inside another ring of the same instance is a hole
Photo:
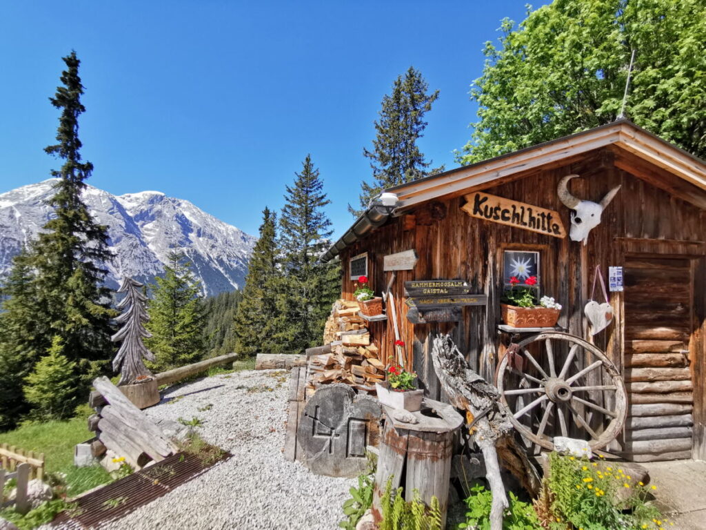
[[[47,201],[54,194],[47,179],[0,194],[0,277],[12,266],[12,257],[52,215]],[[189,201],[160,192],[115,196],[88,186],[83,193],[97,223],[107,225],[115,254],[108,264],[107,284],[132,276],[151,282],[164,271],[170,249],[191,260],[203,294],[215,295],[245,284],[256,238],[196,208]]]

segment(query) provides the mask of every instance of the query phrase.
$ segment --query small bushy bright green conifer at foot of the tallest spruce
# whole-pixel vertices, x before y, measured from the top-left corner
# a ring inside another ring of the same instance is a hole
[[[25,399],[32,404],[32,416],[41,420],[64,419],[73,415],[78,399],[76,363],[64,355],[61,337],[54,336],[47,355],[25,377]]]

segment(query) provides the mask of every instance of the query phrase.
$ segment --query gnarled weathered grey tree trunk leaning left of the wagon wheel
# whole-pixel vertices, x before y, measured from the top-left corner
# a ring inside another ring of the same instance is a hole
[[[471,370],[450,336],[434,338],[431,358],[450,404],[466,411],[468,428],[483,453],[486,479],[493,493],[491,530],[502,530],[503,510],[508,507],[508,497],[498,455],[503,467],[532,494],[539,490],[537,470],[527,458],[525,449],[515,440],[513,424],[500,404],[498,389]]]

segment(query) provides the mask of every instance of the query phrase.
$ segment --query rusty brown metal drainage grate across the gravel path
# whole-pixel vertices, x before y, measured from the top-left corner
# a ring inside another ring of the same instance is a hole
[[[142,471],[110,483],[94,493],[80,497],[76,510],[61,512],[52,525],[72,529],[94,529],[133,512],[138,507],[166,495],[177,486],[196,478],[219,461],[232,455],[223,454],[216,461],[205,462],[193,453],[180,452]]]

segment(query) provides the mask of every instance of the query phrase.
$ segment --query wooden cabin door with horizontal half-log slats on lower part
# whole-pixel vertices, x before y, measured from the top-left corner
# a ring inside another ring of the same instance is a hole
[[[695,322],[688,258],[628,257],[625,281],[626,457],[691,457]]]

